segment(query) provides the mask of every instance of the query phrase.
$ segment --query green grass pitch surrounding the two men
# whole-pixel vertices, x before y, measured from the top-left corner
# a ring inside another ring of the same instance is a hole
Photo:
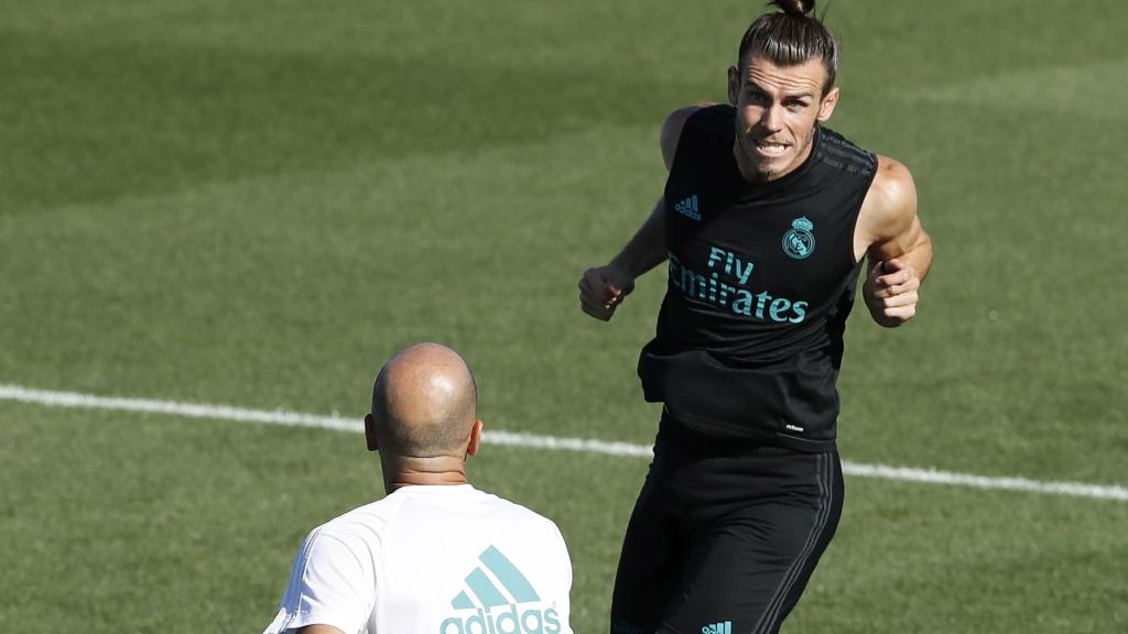
[[[359,417],[447,343],[487,429],[644,443],[664,280],[575,282],[661,191],[758,2],[0,0],[0,384]],[[1128,484],[1128,5],[834,2],[832,126],[914,171],[919,317],[852,319],[844,458]],[[646,463],[488,446],[606,631]],[[0,629],[257,632],[356,434],[0,402]],[[1128,503],[847,478],[790,634],[1128,631]]]

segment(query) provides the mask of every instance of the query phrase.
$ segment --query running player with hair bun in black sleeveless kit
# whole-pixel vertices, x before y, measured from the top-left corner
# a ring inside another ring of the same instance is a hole
[[[664,404],[619,560],[611,632],[777,632],[841,512],[835,382],[862,262],[882,326],[916,312],[932,243],[909,171],[825,127],[838,43],[811,0],[776,0],[729,69],[731,105],[673,112],[650,218],[584,272],[610,319],[667,262],[638,376]]]

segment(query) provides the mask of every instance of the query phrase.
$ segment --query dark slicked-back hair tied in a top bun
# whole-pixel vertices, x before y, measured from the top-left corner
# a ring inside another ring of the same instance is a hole
[[[814,0],[770,0],[772,5],[783,10],[764,14],[748,26],[740,38],[737,68],[743,70],[749,53],[782,67],[822,60],[827,68],[827,83],[822,87],[826,95],[838,74],[838,41],[814,16]]]

